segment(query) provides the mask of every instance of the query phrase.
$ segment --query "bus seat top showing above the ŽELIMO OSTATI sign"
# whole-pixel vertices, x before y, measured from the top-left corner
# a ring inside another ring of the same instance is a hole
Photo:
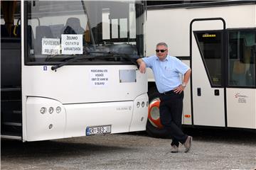
[[[68,18],[66,25],[61,30],[63,34],[84,34],[85,30],[81,27],[79,18]]]

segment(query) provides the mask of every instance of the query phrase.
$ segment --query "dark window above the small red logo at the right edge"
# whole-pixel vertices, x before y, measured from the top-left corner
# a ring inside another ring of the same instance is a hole
[[[228,85],[255,86],[255,30],[232,30],[228,37]]]

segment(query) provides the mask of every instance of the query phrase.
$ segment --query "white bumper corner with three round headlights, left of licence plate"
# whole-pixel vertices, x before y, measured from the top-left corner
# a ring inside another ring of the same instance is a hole
[[[42,107],[47,109],[46,113],[40,113]],[[54,108],[51,114],[48,112],[50,107]],[[60,113],[56,113],[55,108],[57,107],[61,108]],[[28,97],[26,101],[26,140],[63,138],[65,120],[65,108],[60,102],[49,98]]]

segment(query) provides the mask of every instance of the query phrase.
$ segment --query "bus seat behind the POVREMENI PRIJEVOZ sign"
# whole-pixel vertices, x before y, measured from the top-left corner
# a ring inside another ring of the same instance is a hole
[[[42,53],[42,38],[53,38],[53,33],[48,26],[37,26],[36,27],[36,42],[35,42],[35,53]]]

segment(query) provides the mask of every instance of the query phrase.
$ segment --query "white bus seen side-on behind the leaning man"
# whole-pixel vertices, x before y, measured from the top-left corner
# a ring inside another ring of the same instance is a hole
[[[146,55],[166,42],[169,55],[192,69],[183,125],[256,129],[256,2],[149,1]],[[161,5],[160,5],[161,4]],[[146,131],[165,135],[151,69]]]

